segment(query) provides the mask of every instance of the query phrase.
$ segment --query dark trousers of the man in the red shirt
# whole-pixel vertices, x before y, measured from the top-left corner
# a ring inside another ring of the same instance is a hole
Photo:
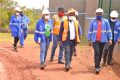
[[[93,42],[95,68],[100,68],[104,45],[102,42]]]

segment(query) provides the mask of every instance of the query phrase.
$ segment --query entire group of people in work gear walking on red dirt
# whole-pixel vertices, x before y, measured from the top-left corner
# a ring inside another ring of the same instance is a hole
[[[67,14],[65,15],[65,13]],[[120,21],[118,20],[118,12],[113,10],[109,20],[103,18],[103,14],[104,11],[101,8],[96,10],[96,18],[91,21],[87,34],[88,45],[93,46],[94,49],[96,74],[100,71],[102,55],[103,66],[106,62],[108,65],[113,65],[112,54],[114,46],[117,42],[120,43]],[[15,9],[15,14],[10,20],[10,29],[14,37],[13,46],[15,51],[17,51],[19,38],[21,46],[24,46],[24,39],[27,36],[30,21],[28,18],[23,18],[23,16],[23,12]],[[58,63],[65,64],[65,71],[71,69],[72,56],[76,51],[75,46],[80,43],[82,36],[78,16],[79,14],[74,8],[70,8],[66,12],[64,8],[59,7],[57,14],[55,14],[53,18],[50,18],[49,10],[43,9],[42,18],[38,20],[34,33],[34,41],[40,46],[41,69],[46,67],[46,56],[51,41],[53,41],[53,45],[50,62],[54,61],[55,50],[59,45]],[[63,54],[65,63],[63,61]]]

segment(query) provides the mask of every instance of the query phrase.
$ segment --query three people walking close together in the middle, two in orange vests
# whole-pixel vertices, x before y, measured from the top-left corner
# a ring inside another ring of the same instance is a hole
[[[75,46],[80,42],[82,29],[79,21],[75,17],[77,11],[70,8],[65,16],[65,9],[58,8],[58,13],[50,19],[50,12],[48,9],[42,11],[42,18],[36,25],[34,39],[40,45],[40,63],[41,69],[46,66],[46,56],[50,41],[53,40],[51,50],[50,62],[53,62],[55,50],[59,45],[58,63],[64,64],[63,52],[65,52],[65,70],[69,71],[72,55]]]

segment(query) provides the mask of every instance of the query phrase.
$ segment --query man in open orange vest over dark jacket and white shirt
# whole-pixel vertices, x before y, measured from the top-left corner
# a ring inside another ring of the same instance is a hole
[[[70,8],[67,13],[67,19],[61,23],[59,39],[62,41],[65,49],[65,70],[71,69],[70,64],[74,47],[80,42],[79,23],[75,19],[75,9]]]

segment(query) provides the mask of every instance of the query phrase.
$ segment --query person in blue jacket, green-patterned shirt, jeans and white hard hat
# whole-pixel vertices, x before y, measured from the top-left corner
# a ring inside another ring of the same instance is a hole
[[[34,34],[34,40],[40,45],[40,65],[41,69],[45,68],[46,55],[50,41],[52,40],[52,21],[50,20],[50,12],[48,9],[42,11],[42,18],[38,20]]]

